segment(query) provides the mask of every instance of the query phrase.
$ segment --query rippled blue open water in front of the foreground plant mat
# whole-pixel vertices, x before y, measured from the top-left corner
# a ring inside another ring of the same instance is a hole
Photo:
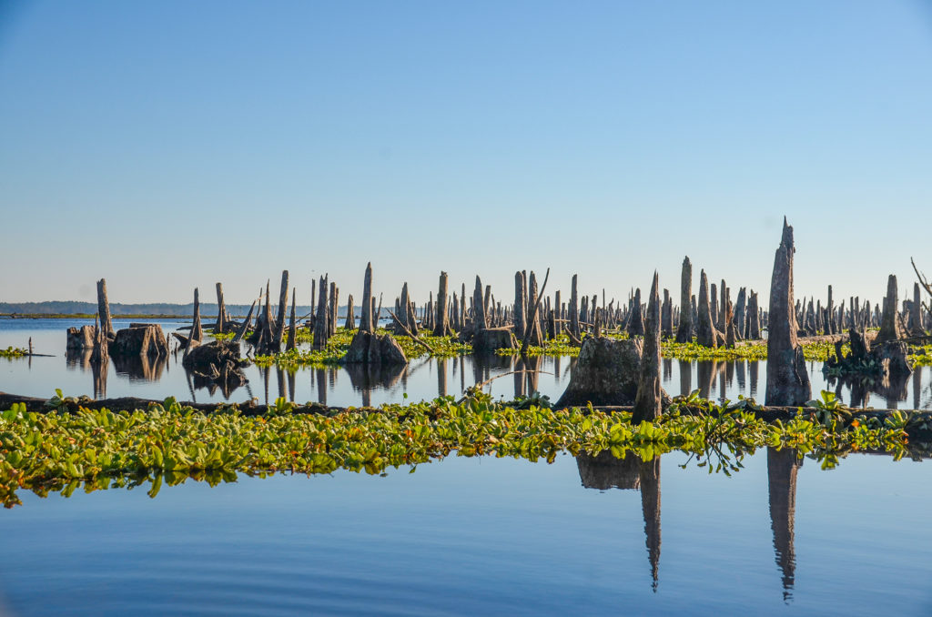
[[[23,493],[0,512],[0,614],[932,612],[929,463],[786,454],[731,478],[678,453],[452,457],[155,499]]]

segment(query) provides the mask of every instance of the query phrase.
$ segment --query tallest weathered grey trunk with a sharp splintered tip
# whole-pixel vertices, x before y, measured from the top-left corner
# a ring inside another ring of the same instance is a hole
[[[768,405],[805,404],[812,396],[809,374],[796,333],[793,310],[793,228],[783,219],[783,235],[774,255],[767,336]]]

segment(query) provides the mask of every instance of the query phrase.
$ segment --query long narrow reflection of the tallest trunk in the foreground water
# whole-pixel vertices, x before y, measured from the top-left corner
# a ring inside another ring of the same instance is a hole
[[[767,486],[770,492],[770,525],[774,529],[776,565],[783,572],[783,599],[792,597],[796,572],[793,520],[796,513],[796,473],[802,467],[794,448],[767,448]]]

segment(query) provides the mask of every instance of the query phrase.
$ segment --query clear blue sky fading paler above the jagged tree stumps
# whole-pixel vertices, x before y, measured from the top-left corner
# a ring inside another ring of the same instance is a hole
[[[932,4],[0,0],[0,300],[932,274]],[[735,291],[733,291],[733,295]]]

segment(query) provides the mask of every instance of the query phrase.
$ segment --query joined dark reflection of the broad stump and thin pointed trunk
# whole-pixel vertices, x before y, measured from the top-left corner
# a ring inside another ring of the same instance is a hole
[[[651,564],[651,588],[656,592],[660,569],[660,457],[644,461],[628,451],[623,458],[617,459],[611,450],[603,450],[596,456],[580,454],[576,457],[576,466],[583,487],[640,489],[644,534]]]

